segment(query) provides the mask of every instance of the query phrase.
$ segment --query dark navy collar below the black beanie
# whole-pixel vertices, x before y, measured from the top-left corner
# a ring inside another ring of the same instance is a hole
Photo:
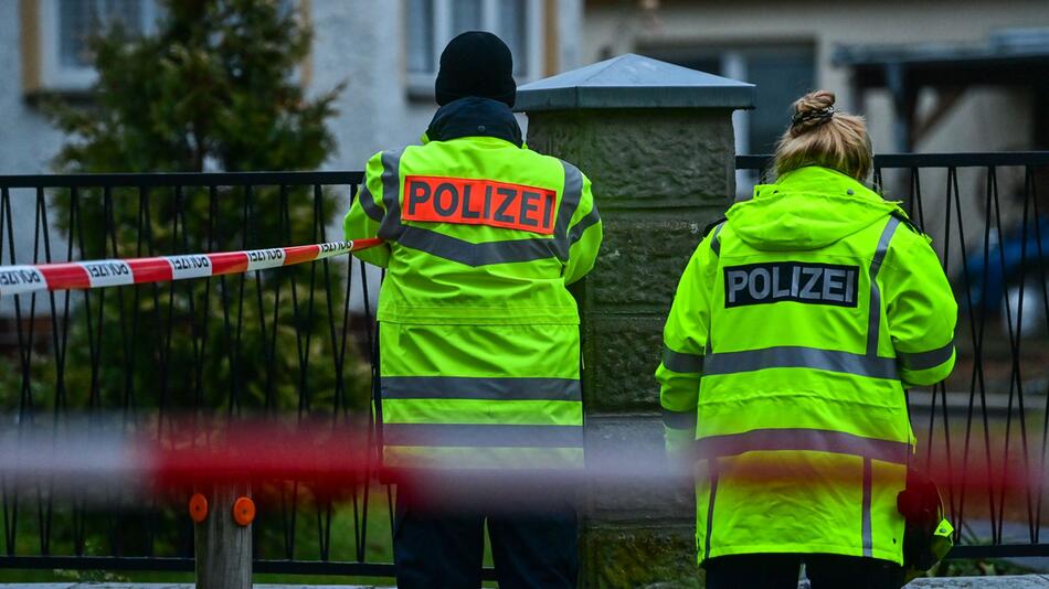
[[[437,109],[423,142],[449,141],[460,137],[495,137],[517,147],[524,144],[521,127],[510,107],[489,98],[466,97]]]

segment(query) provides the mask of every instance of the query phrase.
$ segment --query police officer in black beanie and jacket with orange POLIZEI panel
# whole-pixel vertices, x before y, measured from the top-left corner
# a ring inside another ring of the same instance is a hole
[[[403,472],[582,467],[579,312],[565,287],[593,267],[601,219],[579,169],[524,147],[511,72],[495,35],[452,40],[424,144],[371,158],[346,216],[348,239],[385,240],[358,257],[386,268],[383,462]],[[575,586],[571,502],[495,510],[412,480],[398,488],[399,587],[479,587],[486,523],[501,587]]]

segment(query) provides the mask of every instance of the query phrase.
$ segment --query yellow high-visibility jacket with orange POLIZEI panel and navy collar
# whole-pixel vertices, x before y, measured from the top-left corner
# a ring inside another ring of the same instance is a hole
[[[579,311],[594,265],[590,181],[523,146],[502,103],[437,111],[424,144],[377,153],[346,215],[379,294],[383,459],[413,468],[582,465]]]

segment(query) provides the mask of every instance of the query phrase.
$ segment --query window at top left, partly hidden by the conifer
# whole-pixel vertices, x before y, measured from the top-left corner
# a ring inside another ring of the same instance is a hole
[[[107,26],[146,33],[157,19],[156,0],[40,0],[41,89],[87,88],[97,75],[88,40]]]

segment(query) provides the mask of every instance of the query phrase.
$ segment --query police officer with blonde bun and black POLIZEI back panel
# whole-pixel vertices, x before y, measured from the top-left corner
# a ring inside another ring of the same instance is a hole
[[[692,255],[665,328],[668,447],[697,472],[707,587],[903,585],[915,442],[904,387],[954,366],[957,308],[929,239],[861,181],[863,120],[794,106],[775,184]]]

